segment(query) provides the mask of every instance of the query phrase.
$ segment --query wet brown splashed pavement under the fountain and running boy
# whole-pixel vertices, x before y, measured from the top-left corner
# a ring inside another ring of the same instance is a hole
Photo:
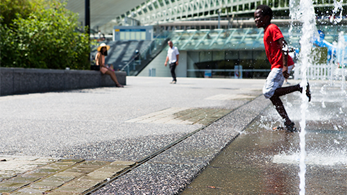
[[[347,96],[341,81],[311,81],[307,110],[306,194],[347,194]],[[300,128],[301,96],[283,98]],[[267,108],[182,194],[299,194],[299,133]]]

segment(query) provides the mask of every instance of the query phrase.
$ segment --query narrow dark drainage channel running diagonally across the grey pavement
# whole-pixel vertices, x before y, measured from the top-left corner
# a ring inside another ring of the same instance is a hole
[[[250,102],[251,101],[249,101],[248,103],[250,103]],[[246,104],[248,104],[248,103],[246,103]],[[246,105],[246,104],[244,104],[244,105]],[[242,107],[244,105],[240,105],[239,107],[235,108],[234,110],[230,110],[230,112],[226,113],[226,115],[229,115],[231,112],[237,110],[238,108],[240,108],[240,107]],[[122,176],[126,175],[126,173],[129,173],[130,171],[136,169],[137,167],[139,167],[142,164],[144,164],[145,162],[148,162],[149,160],[155,158],[155,156],[163,153],[164,151],[167,151],[168,149],[171,149],[176,144],[179,144],[180,142],[183,142],[183,140],[185,140],[188,137],[191,137],[192,135],[198,133],[199,131],[201,131],[204,128],[210,126],[211,124],[213,124],[214,122],[218,121],[219,119],[222,119],[226,115],[223,115],[223,116],[219,117],[218,119],[214,119],[213,121],[210,121],[210,123],[206,124],[205,126],[203,126],[201,128],[198,128],[198,129],[194,130],[192,133],[189,133],[189,134],[181,137],[180,139],[177,139],[175,142],[171,142],[171,144],[168,144],[167,146],[162,147],[162,149],[159,149],[158,151],[155,151],[154,153],[151,153],[150,155],[146,156],[145,158],[142,158],[142,160],[137,161],[136,164],[134,164],[132,167],[129,167],[128,169],[125,169],[124,171],[119,173],[114,178],[110,178],[110,180],[107,180],[105,183],[102,183],[101,185],[98,185],[98,186],[94,187],[93,189],[88,190],[87,192],[83,192],[83,194],[85,194],[85,195],[92,194],[92,193],[98,191],[99,189],[101,189],[102,187],[105,187],[106,185],[109,185],[110,183],[112,183],[113,181],[117,180],[118,178],[121,178]]]

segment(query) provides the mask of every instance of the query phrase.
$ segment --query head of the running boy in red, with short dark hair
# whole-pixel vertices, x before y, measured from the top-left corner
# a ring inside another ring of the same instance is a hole
[[[254,12],[254,22],[257,28],[265,28],[271,24],[271,18],[273,16],[272,10],[269,6],[260,5],[257,6]]]

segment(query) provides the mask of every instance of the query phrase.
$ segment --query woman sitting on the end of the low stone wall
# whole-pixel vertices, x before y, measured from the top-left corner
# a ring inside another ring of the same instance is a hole
[[[116,83],[116,87],[124,87],[123,85],[119,84],[115,71],[113,69],[110,69],[108,65],[105,65],[105,56],[108,55],[108,49],[110,49],[109,45],[106,45],[104,43],[100,44],[100,46],[98,47],[99,52],[96,53],[95,56],[96,65],[100,66],[100,71],[103,74],[108,74],[111,76],[111,79]]]

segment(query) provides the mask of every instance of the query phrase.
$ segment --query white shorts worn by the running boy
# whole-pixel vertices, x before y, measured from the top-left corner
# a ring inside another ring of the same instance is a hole
[[[285,77],[282,74],[282,69],[273,68],[269,76],[266,78],[264,87],[262,88],[262,94],[264,94],[266,99],[271,98],[275,93],[275,90],[282,87]]]

